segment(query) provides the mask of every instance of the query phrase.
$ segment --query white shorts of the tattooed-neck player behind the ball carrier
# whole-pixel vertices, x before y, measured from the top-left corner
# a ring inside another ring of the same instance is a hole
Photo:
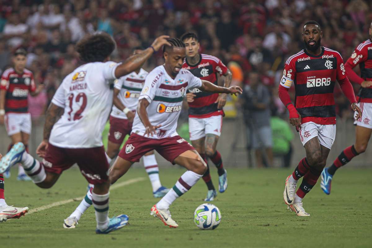
[[[222,115],[215,115],[207,118],[189,118],[190,140],[194,141],[212,133],[221,136]]]

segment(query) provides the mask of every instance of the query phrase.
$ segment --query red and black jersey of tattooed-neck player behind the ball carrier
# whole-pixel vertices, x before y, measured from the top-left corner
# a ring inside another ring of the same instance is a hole
[[[190,65],[185,59],[182,68],[189,70],[195,77],[215,85],[217,85],[217,74],[225,75],[228,70],[221,59],[206,54],[200,55],[200,60],[196,65]],[[203,92],[197,88],[190,90],[190,92],[193,92],[196,97],[194,102],[189,103],[189,117],[206,118],[224,114],[222,109],[217,109],[218,104],[215,103],[218,93]]]

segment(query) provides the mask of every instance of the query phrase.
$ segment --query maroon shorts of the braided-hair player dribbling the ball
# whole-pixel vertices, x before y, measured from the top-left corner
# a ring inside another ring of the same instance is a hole
[[[140,158],[147,152],[156,150],[163,158],[171,162],[183,152],[194,150],[192,145],[179,135],[161,139],[151,139],[131,133],[124,147],[119,152],[119,157],[131,161],[139,162]]]

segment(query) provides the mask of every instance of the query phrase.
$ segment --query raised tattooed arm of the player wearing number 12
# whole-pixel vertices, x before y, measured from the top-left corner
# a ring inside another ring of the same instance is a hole
[[[126,59],[121,65],[116,67],[115,77],[119,78],[137,70],[148,58],[151,57],[151,55],[153,55],[154,52],[158,51],[163,45],[171,46],[171,44],[167,41],[168,38],[168,35],[161,35],[155,39],[149,48],[145,49],[140,54],[133,55]]]

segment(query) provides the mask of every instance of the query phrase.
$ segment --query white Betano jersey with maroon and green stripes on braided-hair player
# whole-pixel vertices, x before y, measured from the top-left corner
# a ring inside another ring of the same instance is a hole
[[[151,125],[161,125],[156,134],[149,138],[161,139],[178,135],[177,120],[186,90],[201,86],[201,79],[185,69],[181,69],[174,79],[167,74],[163,65],[152,70],[146,77],[139,98],[147,99],[150,103],[147,107],[147,115]],[[134,117],[132,132],[142,136],[145,133],[145,127],[138,113]]]

